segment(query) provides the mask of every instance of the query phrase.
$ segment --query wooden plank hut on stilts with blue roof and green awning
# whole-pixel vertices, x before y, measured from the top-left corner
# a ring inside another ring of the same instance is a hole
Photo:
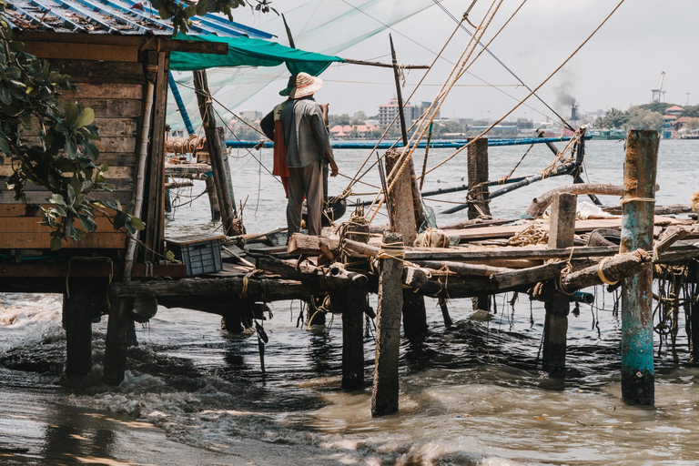
[[[68,242],[56,253],[50,250],[50,229],[41,225],[35,207],[47,205],[50,193],[27,187],[24,204],[13,200],[13,192],[0,191],[0,292],[64,294],[68,375],[90,370],[91,322],[108,312],[105,372],[112,374],[110,381],[118,382],[123,377],[129,322],[133,328],[137,319],[132,309],[149,312],[144,309],[154,309],[155,302],[131,298],[125,304],[125,299],[117,299],[120,302],[114,305],[108,298],[109,286],[122,277],[186,273],[184,265],[162,263],[169,70],[286,63],[292,72],[317,75],[331,62],[344,60],[260,40],[273,35],[218,15],[198,16],[190,35],[174,38],[173,28],[156,10],[135,0],[9,0],[7,4],[3,18],[13,27],[14,39],[78,85],[76,91],[64,92],[61,100],[77,101],[95,111],[101,137],[96,142],[96,163],[109,166],[106,177],[115,188],[94,197],[127,204],[136,196],[137,205],[142,198],[135,215],[146,229],[138,238],[135,260],[131,260],[135,242],[116,231],[106,215],[97,218],[95,232]],[[239,43],[233,44],[231,38],[236,37]],[[11,170],[0,166],[0,175]]]

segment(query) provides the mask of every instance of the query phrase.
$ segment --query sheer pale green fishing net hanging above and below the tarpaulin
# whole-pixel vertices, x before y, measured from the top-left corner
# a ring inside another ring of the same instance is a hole
[[[289,29],[299,49],[320,54],[337,56],[350,46],[355,46],[372,35],[396,25],[420,11],[435,5],[433,0],[311,0],[285,13]],[[247,8],[235,11],[236,21],[254,25],[277,36],[279,44],[288,46],[287,33],[280,15],[269,13],[262,17]],[[340,55],[341,56],[341,55]],[[358,57],[370,58],[370,57]],[[173,72],[189,117],[195,127],[201,123],[197,98],[192,88],[191,73]],[[279,89],[286,86],[289,71],[286,66],[235,68],[211,68],[207,71],[208,86],[218,102],[229,109],[236,108],[257,94],[268,84],[278,83]],[[283,86],[280,86],[283,85]],[[269,92],[278,92],[274,87]],[[221,117],[230,117],[218,108]],[[170,94],[167,99],[167,123],[172,129],[184,127],[175,100]]]

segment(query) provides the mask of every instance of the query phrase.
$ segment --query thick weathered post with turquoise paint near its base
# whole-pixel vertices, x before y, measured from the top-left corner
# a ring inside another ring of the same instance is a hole
[[[653,250],[653,199],[658,133],[629,130],[623,164],[620,252]],[[653,265],[622,281],[622,397],[632,404],[655,402],[653,371]]]

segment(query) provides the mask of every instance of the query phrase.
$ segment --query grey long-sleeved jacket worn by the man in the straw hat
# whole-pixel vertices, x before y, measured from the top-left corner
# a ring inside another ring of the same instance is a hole
[[[292,100],[281,112],[281,127],[289,168],[322,162],[326,151],[332,156],[323,114],[313,97]]]

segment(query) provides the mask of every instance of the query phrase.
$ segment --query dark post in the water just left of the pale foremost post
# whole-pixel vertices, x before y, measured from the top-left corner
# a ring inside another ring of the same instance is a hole
[[[345,285],[330,295],[332,308],[342,312],[342,388],[364,386],[364,309],[367,283]]]

